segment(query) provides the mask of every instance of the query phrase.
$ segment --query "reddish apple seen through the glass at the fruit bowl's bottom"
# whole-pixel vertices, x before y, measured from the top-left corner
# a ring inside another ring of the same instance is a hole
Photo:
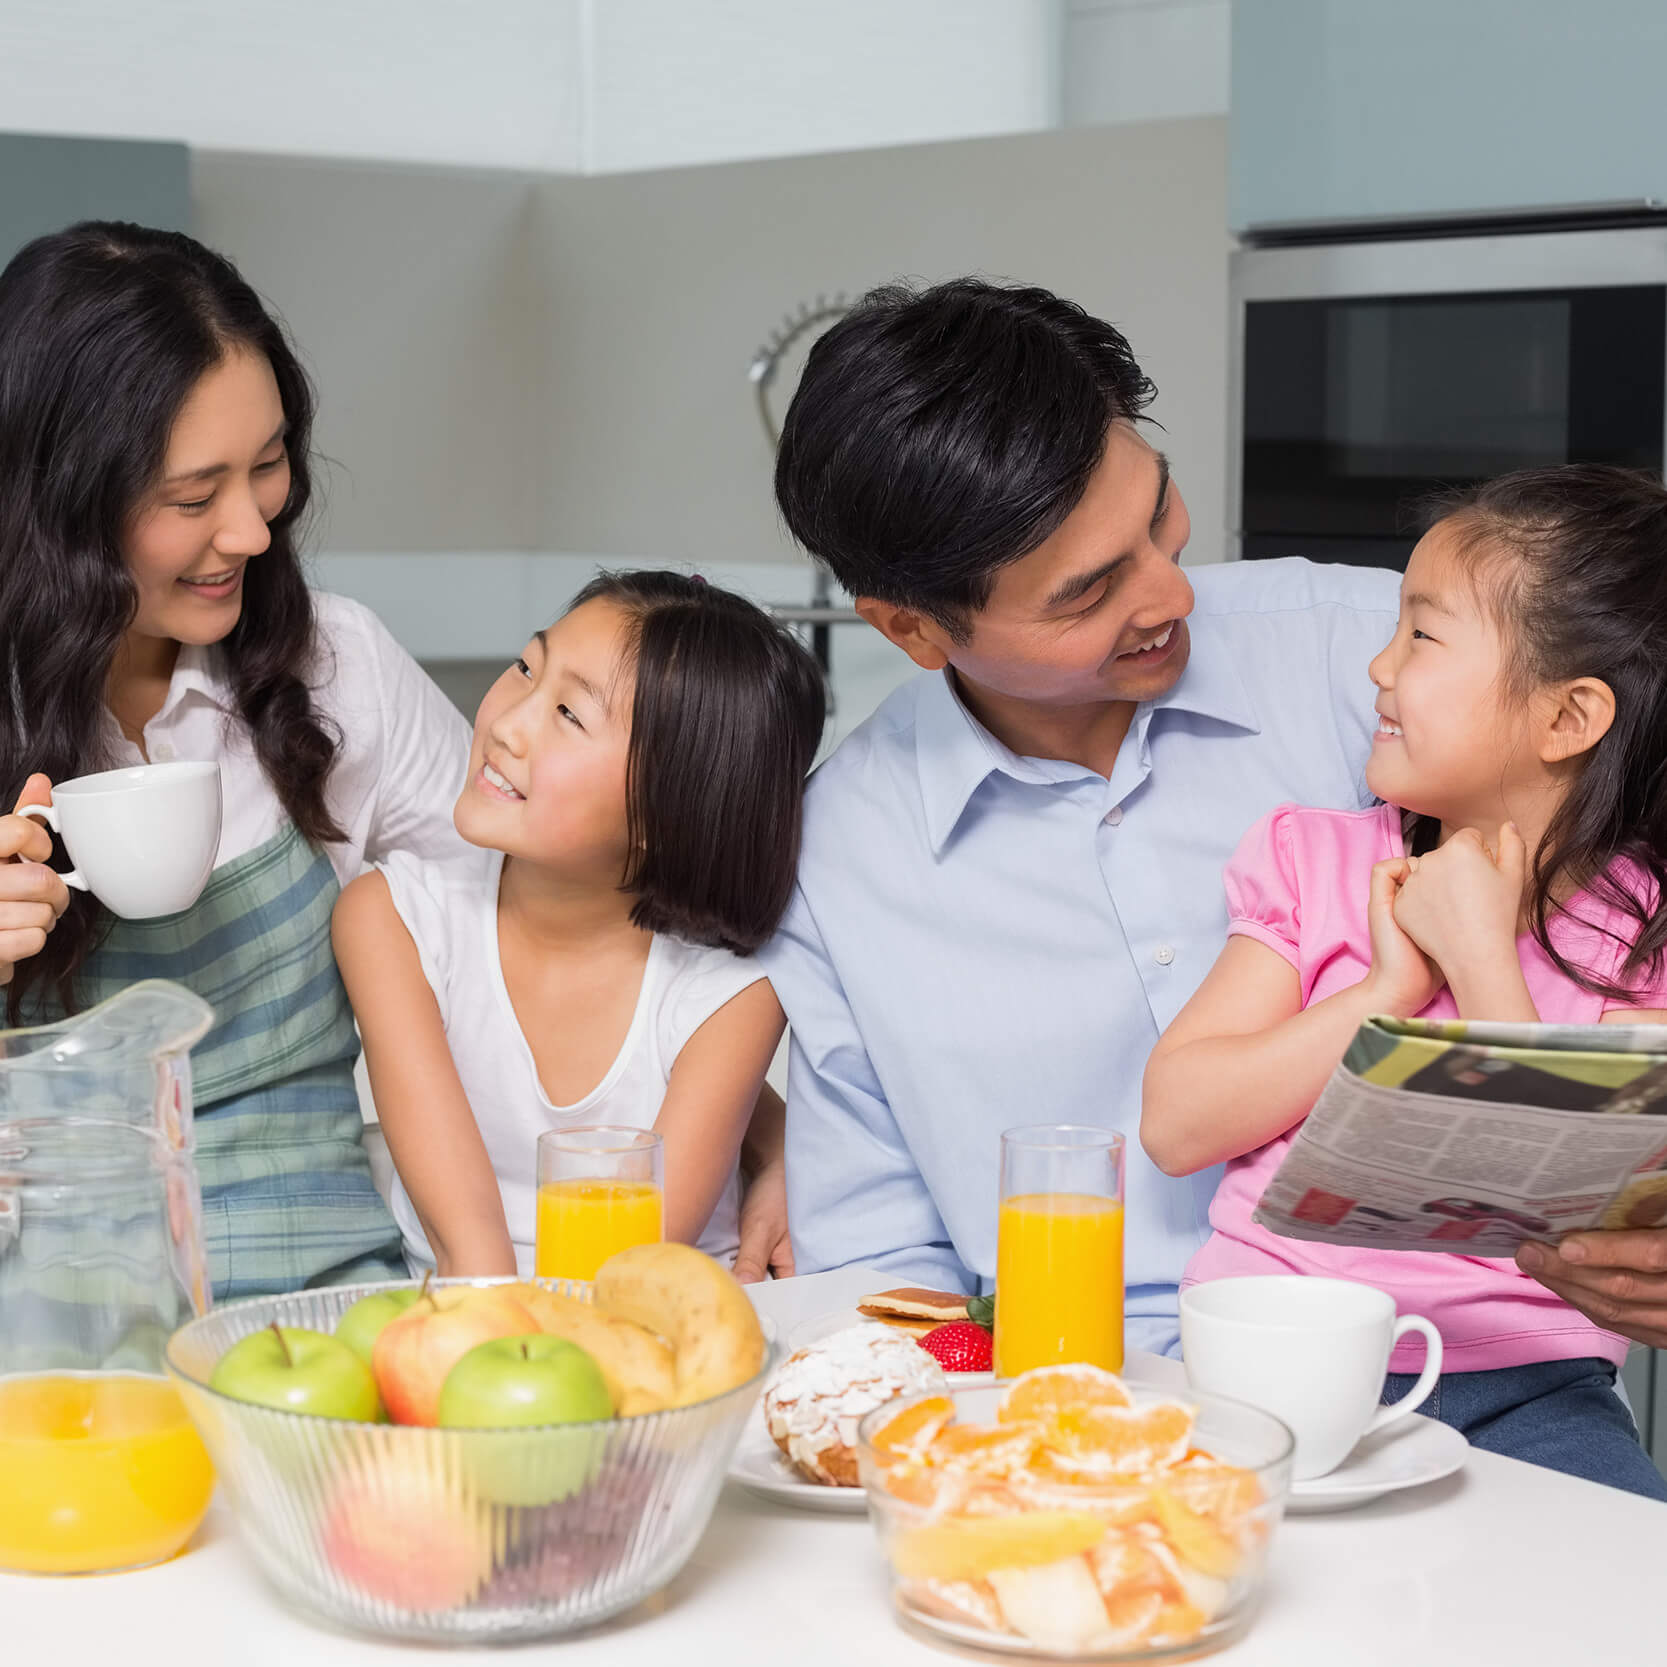
[[[342,1484],[323,1549],[365,1597],[417,1612],[453,1609],[492,1569],[492,1525],[477,1500],[388,1459]]]

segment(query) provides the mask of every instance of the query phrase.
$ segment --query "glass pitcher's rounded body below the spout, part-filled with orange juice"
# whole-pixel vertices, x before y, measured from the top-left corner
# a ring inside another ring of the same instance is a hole
[[[205,1307],[188,1149],[82,1117],[0,1124],[0,1569],[185,1547],[213,1467],[162,1349]]]

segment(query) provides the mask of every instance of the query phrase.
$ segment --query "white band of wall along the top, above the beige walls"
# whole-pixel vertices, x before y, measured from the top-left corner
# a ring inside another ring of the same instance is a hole
[[[42,133],[558,172],[1059,118],[1060,0],[7,0]]]

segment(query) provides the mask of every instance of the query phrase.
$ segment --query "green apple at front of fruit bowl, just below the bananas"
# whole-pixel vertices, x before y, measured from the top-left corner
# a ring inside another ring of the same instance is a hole
[[[440,1425],[468,1429],[468,1467],[483,1499],[553,1505],[597,1472],[607,1447],[592,1425],[613,1417],[597,1362],[565,1337],[497,1337],[477,1344],[447,1374]]]

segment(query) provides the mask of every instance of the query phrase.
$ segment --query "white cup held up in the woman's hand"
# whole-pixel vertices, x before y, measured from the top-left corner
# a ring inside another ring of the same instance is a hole
[[[123,920],[190,909],[220,850],[220,765],[135,763],[57,782],[50,805],[20,805],[63,837],[63,884]]]

